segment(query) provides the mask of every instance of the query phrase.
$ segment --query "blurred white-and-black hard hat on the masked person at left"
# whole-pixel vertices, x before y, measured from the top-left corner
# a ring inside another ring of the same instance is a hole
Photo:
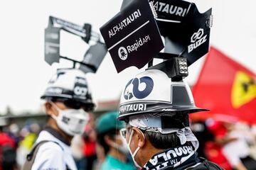
[[[58,69],[41,98],[82,104],[87,111],[95,107],[85,73],[79,69]]]

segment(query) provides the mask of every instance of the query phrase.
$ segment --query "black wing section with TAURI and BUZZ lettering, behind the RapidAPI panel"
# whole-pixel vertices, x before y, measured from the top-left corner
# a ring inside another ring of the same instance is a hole
[[[164,52],[188,59],[188,65],[209,49],[211,8],[199,13],[196,4],[182,0],[149,0],[157,13],[156,23],[165,37]],[[122,8],[131,0],[123,0]]]

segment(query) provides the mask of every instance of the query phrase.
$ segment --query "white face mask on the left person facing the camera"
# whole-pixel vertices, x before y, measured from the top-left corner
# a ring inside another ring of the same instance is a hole
[[[51,104],[58,110],[58,116],[52,115],[58,127],[70,136],[82,134],[89,120],[88,113],[82,108],[60,110],[53,102]]]

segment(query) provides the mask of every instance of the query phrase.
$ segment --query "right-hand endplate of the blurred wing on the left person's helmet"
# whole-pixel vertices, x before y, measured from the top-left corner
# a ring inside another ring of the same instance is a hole
[[[97,42],[95,45],[90,46],[90,48],[85,52],[84,59],[80,65],[82,72],[92,72],[95,73],[97,68],[100,67],[100,64],[107,54],[106,45],[102,42]],[[89,67],[90,66],[90,67]]]

